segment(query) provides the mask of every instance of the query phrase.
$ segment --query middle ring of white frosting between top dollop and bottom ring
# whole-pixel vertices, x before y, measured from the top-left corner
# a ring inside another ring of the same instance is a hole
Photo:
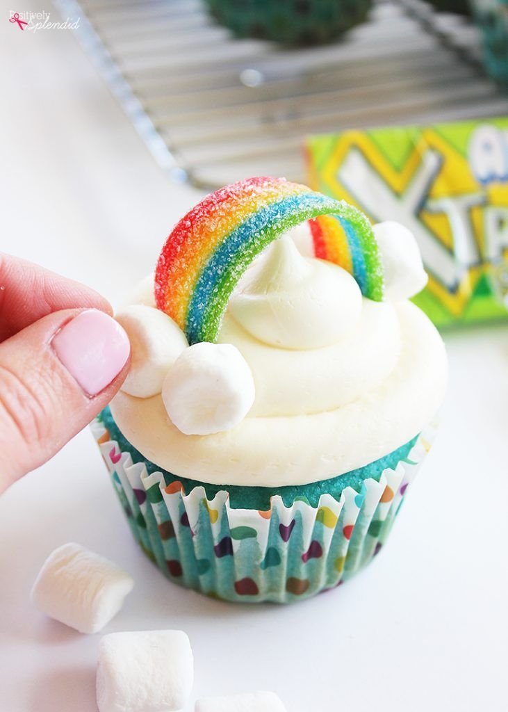
[[[342,407],[388,377],[401,350],[393,306],[367,299],[354,328],[320,349],[270,347],[245,331],[230,313],[218,340],[234,344],[253,372],[256,397],[250,416],[300,415]]]

